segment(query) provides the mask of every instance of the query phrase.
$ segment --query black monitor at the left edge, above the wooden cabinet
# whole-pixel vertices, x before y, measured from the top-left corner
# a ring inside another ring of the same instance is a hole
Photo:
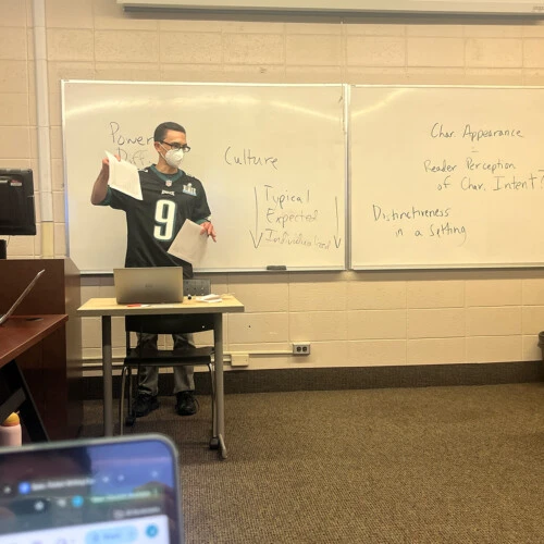
[[[32,170],[0,169],[0,235],[36,234]]]

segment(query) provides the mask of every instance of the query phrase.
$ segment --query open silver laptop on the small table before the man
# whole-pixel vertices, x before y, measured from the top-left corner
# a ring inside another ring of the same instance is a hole
[[[183,302],[181,267],[114,269],[113,284],[120,305]]]

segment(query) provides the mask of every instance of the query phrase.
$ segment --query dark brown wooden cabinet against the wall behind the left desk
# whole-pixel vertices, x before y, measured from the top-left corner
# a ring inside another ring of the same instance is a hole
[[[0,313],[45,269],[15,314],[67,313],[69,321],[17,357],[51,440],[77,436],[83,421],[81,275],[70,259],[0,260]]]

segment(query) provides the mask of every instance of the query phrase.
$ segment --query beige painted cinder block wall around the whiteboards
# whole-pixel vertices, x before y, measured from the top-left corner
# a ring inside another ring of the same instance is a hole
[[[544,84],[544,25],[529,21],[198,21],[127,15],[115,0],[47,0],[46,15],[57,257],[66,254],[61,78]],[[0,165],[37,171],[32,2],[0,0]],[[84,126],[81,137],[86,137]],[[39,200],[39,172],[37,180]],[[94,180],[79,182],[88,183],[90,191]],[[9,255],[39,257],[40,234],[12,238]],[[246,305],[245,314],[225,318],[226,350],[254,354],[249,369],[541,358],[541,270],[230,273],[211,279],[213,290],[234,293]],[[86,277],[84,298],[92,296],[112,296],[111,277]],[[289,349],[297,341],[311,342],[309,357],[257,355]],[[119,321],[114,342],[120,355],[124,333]],[[91,368],[100,355],[98,320],[85,320],[84,346]]]

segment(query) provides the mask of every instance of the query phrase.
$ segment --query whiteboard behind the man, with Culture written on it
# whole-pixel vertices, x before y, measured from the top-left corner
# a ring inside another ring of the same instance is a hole
[[[185,171],[206,188],[218,242],[201,271],[342,270],[342,85],[62,82],[67,248],[84,273],[124,264],[125,217],[90,205],[104,151],[157,162],[157,125],[187,131]]]

